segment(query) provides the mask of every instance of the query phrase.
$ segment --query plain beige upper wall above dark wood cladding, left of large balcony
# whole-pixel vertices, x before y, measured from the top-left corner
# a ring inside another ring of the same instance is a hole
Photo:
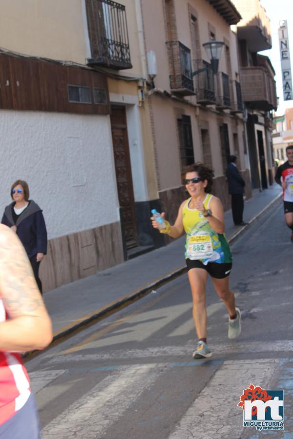
[[[1,47],[84,64],[82,4],[83,0],[1,0]]]

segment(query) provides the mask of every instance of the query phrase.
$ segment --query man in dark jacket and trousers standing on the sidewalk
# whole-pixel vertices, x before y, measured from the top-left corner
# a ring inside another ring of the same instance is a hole
[[[226,169],[226,175],[229,184],[229,194],[231,195],[231,207],[232,207],[232,217],[234,224],[247,225],[247,222],[243,221],[243,210],[244,210],[244,187],[245,181],[240,175],[238,168],[236,166],[237,157],[229,156],[229,164]]]

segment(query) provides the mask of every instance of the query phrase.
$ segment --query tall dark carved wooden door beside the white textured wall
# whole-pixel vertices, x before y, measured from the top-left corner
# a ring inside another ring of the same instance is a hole
[[[129,249],[137,246],[137,232],[125,107],[111,107],[111,129],[122,226],[126,249]]]

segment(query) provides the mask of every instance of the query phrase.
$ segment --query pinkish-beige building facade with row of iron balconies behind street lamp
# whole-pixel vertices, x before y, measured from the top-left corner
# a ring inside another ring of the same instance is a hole
[[[230,29],[241,16],[229,0],[142,0],[142,15],[146,53],[153,51],[157,62],[148,101],[162,209],[175,219],[186,198],[180,172],[194,161],[214,169],[213,193],[228,209],[229,154],[238,156],[251,195],[237,38]],[[216,75],[203,48],[212,40],[224,42]]]

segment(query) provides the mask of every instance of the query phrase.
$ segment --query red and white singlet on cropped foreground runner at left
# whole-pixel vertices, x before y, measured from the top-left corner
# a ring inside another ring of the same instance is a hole
[[[0,322],[7,319],[0,299]],[[21,355],[0,351],[0,425],[24,406],[30,396],[29,378]]]

